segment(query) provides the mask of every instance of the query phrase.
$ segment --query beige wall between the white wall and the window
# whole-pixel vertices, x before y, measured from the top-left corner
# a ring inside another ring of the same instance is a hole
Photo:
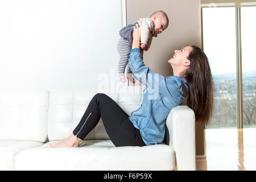
[[[150,49],[143,56],[144,64],[160,75],[172,75],[168,60],[175,49],[192,45],[201,47],[200,0],[126,0],[126,10],[127,24],[146,18],[156,10],[163,10],[168,15],[168,28],[153,38]],[[196,124],[196,155],[204,155],[203,129],[204,126]]]

